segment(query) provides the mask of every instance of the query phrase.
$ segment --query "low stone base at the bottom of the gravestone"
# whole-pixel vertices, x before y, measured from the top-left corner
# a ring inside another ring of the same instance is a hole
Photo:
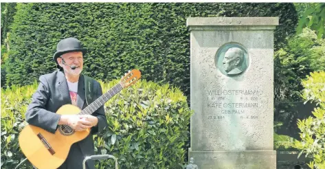
[[[276,169],[276,151],[192,151],[188,158],[194,158],[199,169]]]

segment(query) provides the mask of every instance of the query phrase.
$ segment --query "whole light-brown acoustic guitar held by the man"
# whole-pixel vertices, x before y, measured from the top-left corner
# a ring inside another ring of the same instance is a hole
[[[118,84],[85,109],[80,110],[78,106],[65,104],[56,113],[60,115],[90,115],[112,98],[113,95],[119,93],[123,88],[131,86],[140,77],[140,71],[133,69],[122,77]],[[63,164],[71,145],[85,139],[89,133],[90,128],[86,131],[74,131],[68,125],[59,125],[55,134],[53,134],[29,124],[19,133],[19,146],[23,154],[36,168],[55,169]]]

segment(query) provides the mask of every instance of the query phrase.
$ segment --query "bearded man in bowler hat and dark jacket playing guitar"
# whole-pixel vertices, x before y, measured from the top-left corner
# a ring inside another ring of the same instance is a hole
[[[85,78],[81,74],[85,53],[86,49],[82,48],[80,41],[76,38],[65,38],[58,43],[53,56],[58,70],[52,74],[40,76],[38,89],[25,113],[28,124],[43,128],[49,133],[55,133],[60,124],[69,125],[77,132],[90,129],[91,134],[98,133],[107,127],[104,106],[100,106],[91,115],[60,115],[56,113],[65,104],[74,104],[80,109],[87,106]],[[93,84],[93,93],[91,94],[95,100],[102,95],[102,87],[96,80],[91,80]],[[82,160],[87,156],[94,155],[91,134],[71,145],[67,159],[59,169],[82,168]],[[87,168],[95,168],[92,160],[87,161]]]

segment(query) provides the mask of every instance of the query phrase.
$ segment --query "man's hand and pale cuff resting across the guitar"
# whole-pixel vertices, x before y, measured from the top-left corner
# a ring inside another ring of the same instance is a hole
[[[61,115],[58,124],[67,124],[75,131],[85,131],[91,128],[91,122],[88,122],[81,115]]]

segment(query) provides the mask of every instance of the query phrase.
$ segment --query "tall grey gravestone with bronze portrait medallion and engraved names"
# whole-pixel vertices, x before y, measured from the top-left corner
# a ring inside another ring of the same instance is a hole
[[[188,158],[199,169],[276,168],[273,30],[276,17],[194,17],[190,31]]]

